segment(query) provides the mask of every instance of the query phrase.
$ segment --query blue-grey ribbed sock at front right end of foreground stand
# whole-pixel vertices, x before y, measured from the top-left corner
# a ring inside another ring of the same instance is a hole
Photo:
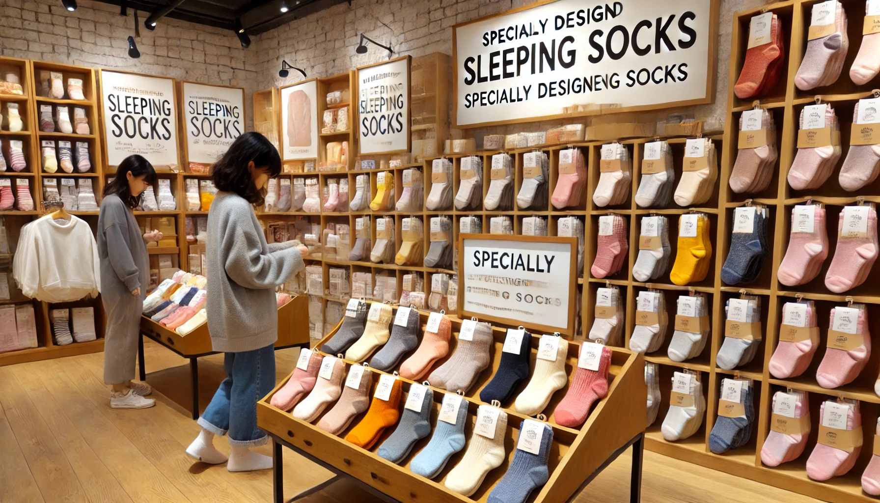
[[[519,425],[519,431],[523,431],[522,424]],[[547,479],[550,478],[547,461],[550,457],[552,444],[553,429],[550,425],[544,425],[539,454],[533,455],[524,450],[516,449],[507,473],[498,481],[495,489],[489,492],[486,503],[523,503],[535,488],[545,485]]]

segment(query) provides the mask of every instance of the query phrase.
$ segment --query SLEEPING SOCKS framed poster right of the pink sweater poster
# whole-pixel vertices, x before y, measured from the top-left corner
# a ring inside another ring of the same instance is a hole
[[[357,68],[357,139],[362,154],[409,152],[408,55]]]

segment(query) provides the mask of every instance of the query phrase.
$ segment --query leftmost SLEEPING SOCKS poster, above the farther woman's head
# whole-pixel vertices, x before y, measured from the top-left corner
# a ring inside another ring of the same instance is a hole
[[[174,79],[100,70],[101,127],[107,165],[143,155],[159,171],[177,171],[177,94]]]

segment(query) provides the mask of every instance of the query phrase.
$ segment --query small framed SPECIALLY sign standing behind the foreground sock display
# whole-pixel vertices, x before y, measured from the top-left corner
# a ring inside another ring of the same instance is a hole
[[[473,235],[463,237],[458,260],[459,318],[573,333],[576,238]]]

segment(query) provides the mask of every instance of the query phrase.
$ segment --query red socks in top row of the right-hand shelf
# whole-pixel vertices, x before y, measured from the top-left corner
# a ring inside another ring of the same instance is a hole
[[[743,69],[739,72],[737,84],[733,86],[737,98],[757,98],[776,86],[781,75],[782,61],[785,59],[784,39],[779,17],[773,14],[770,40],[745,50]]]

